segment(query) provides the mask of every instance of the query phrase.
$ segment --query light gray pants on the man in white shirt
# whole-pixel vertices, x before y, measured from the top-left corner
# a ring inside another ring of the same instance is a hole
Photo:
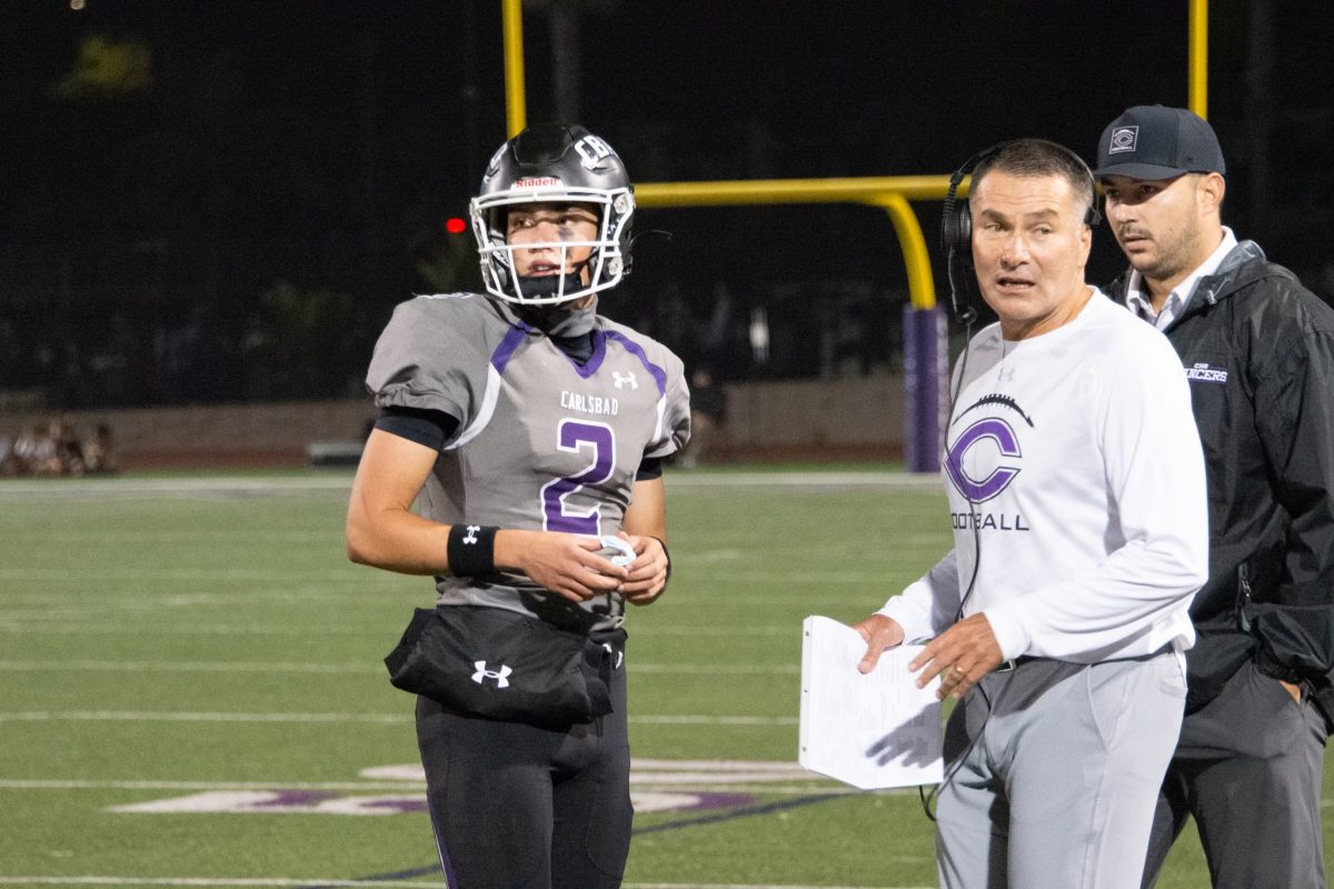
[[[940,885],[1138,886],[1185,700],[1171,652],[984,677],[946,728]]]

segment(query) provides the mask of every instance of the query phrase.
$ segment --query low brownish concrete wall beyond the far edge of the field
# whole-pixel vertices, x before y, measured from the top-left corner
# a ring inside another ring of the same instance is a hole
[[[736,460],[890,460],[903,454],[903,380],[740,383],[727,392],[727,454]],[[316,441],[356,441],[370,399],[69,415],[83,435],[115,433],[125,468],[303,465]],[[0,431],[49,423],[51,412],[3,411]]]

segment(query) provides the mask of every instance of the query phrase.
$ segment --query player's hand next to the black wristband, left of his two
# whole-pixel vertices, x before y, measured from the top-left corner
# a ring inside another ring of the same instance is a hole
[[[630,573],[626,568],[598,554],[596,537],[566,534],[554,530],[496,532],[496,566],[516,569],[534,582],[582,602],[616,592]]]

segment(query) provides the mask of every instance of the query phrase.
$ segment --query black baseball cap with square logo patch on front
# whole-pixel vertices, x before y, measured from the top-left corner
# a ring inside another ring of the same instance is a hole
[[[1102,131],[1094,176],[1157,181],[1226,172],[1218,136],[1203,117],[1186,108],[1135,105]]]

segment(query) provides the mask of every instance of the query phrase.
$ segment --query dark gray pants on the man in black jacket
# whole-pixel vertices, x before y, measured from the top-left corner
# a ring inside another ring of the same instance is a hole
[[[1321,780],[1325,717],[1243,665],[1182,722],[1167,766],[1145,886],[1195,817],[1215,889],[1325,889]]]

